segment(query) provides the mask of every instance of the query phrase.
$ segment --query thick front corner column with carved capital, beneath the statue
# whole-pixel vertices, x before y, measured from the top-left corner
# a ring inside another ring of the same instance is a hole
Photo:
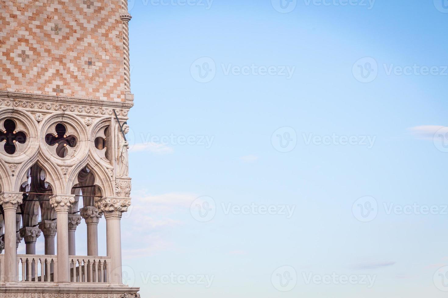
[[[103,212],[106,218],[107,254],[112,259],[111,281],[123,283],[121,268],[121,215],[131,205],[129,199],[104,198],[95,203],[95,207]]]

